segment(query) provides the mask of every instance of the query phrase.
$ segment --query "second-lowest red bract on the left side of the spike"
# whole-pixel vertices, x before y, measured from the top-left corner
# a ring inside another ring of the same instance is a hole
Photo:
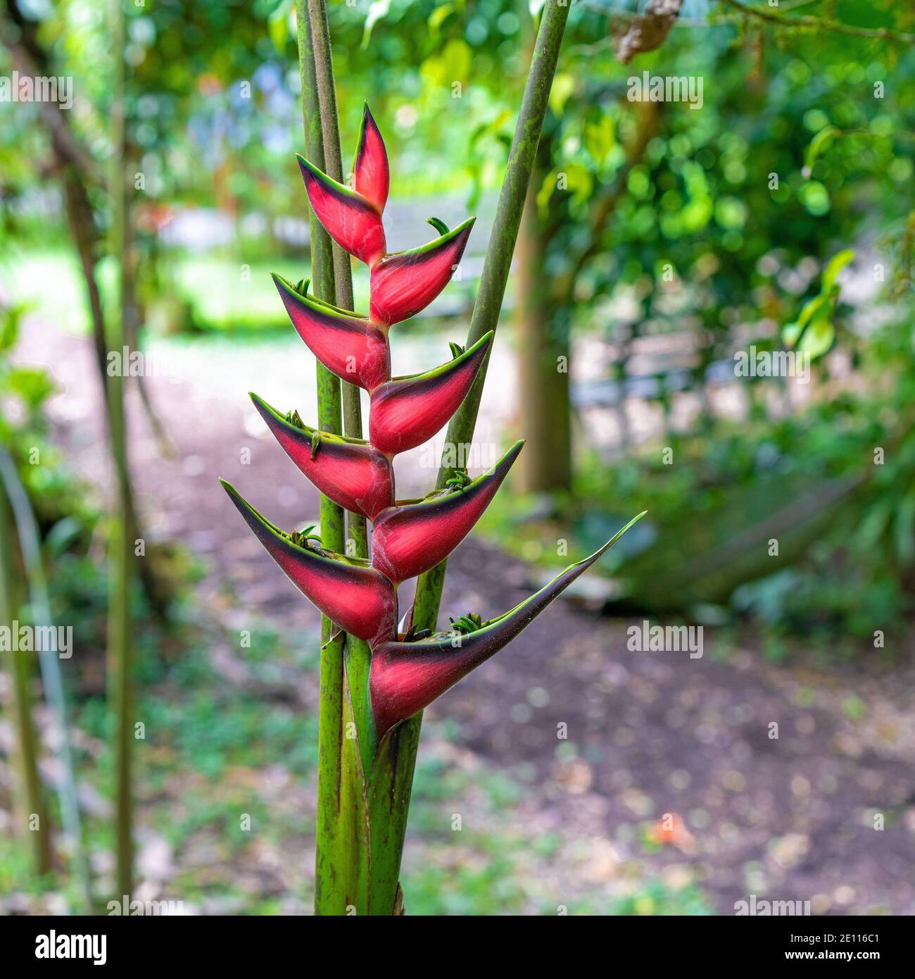
[[[286,454],[325,496],[369,520],[393,503],[393,470],[374,445],[299,426],[262,398],[251,399]]]

